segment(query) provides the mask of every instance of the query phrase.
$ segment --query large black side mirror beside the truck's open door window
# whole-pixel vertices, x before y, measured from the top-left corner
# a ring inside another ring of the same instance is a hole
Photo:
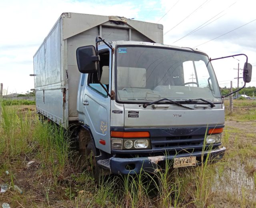
[[[100,56],[96,55],[94,46],[82,46],[76,50],[76,61],[81,73],[94,73],[97,71],[97,61]]]

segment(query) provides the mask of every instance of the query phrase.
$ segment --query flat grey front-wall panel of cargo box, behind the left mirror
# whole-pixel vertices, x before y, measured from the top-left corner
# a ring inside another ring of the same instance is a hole
[[[78,83],[81,73],[78,71],[76,61],[76,49],[80,46],[95,46],[95,38],[98,35],[98,27],[91,28],[76,36],[67,39],[68,53],[68,117],[70,121],[78,120],[76,110]]]

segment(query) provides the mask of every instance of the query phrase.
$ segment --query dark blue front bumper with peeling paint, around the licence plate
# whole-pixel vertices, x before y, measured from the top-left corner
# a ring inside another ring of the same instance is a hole
[[[197,164],[200,164],[201,158],[206,157],[209,154],[210,160],[216,162],[224,156],[226,151],[225,147],[220,149],[214,149],[211,151],[199,151],[194,153],[184,153],[179,155],[167,155],[167,156],[152,156],[152,157],[136,157],[136,158],[110,158],[110,171],[113,174],[138,174],[141,170],[146,172],[154,172],[158,168],[158,164],[165,160],[170,160],[173,162],[173,159],[176,157],[188,157],[196,156],[196,160],[199,161]],[[202,155],[203,154],[203,155]],[[131,168],[128,168],[132,167]]]

